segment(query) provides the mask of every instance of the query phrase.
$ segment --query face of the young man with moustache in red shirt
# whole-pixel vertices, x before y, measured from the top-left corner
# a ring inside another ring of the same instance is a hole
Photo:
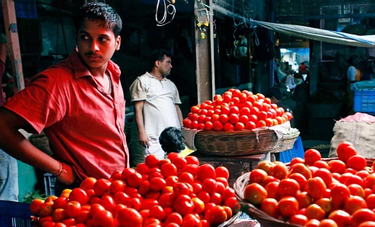
[[[86,18],[77,33],[78,53],[89,68],[105,67],[115,51],[120,49],[121,37],[115,37],[101,21]]]

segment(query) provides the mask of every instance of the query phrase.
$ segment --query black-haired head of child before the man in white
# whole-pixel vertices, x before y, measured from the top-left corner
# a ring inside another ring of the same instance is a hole
[[[166,153],[179,153],[185,149],[181,129],[176,127],[165,128],[162,133],[160,133],[159,143]]]

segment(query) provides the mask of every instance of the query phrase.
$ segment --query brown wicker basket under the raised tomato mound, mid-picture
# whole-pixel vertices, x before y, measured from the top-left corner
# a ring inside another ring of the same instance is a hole
[[[268,128],[240,131],[198,131],[194,145],[200,153],[215,156],[244,156],[275,151],[280,140]]]

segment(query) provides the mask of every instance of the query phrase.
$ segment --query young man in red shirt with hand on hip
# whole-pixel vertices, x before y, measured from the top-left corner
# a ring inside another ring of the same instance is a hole
[[[52,173],[63,188],[129,167],[121,72],[110,60],[120,49],[121,18],[110,6],[91,3],[74,15],[74,25],[77,46],[69,58],[37,74],[0,108],[0,148]],[[44,130],[53,156],[24,139],[20,128]]]

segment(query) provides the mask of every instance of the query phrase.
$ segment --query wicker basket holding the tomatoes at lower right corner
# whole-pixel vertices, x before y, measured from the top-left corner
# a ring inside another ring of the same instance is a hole
[[[325,161],[325,162],[329,162],[331,160],[336,160],[336,159],[337,158],[323,158],[322,160]],[[372,166],[372,162],[374,160],[375,160],[375,158],[366,158],[367,166]],[[289,166],[289,163],[286,164],[286,165]],[[264,213],[263,211],[261,211],[260,209],[255,207],[254,205],[245,201],[243,194],[244,194],[244,191],[245,191],[245,187],[249,183],[250,173],[251,172],[247,172],[247,173],[241,175],[240,177],[238,177],[236,182],[234,183],[234,186],[233,186],[233,188],[236,192],[237,200],[239,201],[241,206],[243,208],[245,208],[245,209],[242,209],[242,210],[246,210],[246,213],[248,215],[250,215],[252,218],[259,221],[261,226],[267,226],[267,227],[279,227],[279,226],[281,226],[281,227],[301,227],[302,225],[291,224],[287,221],[282,221],[282,220],[276,219],[274,217],[271,217],[270,215]]]

